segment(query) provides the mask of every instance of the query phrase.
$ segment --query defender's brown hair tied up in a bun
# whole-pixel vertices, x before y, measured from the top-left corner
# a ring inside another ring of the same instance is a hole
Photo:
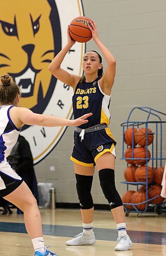
[[[1,76],[0,102],[2,105],[13,104],[16,96],[20,95],[20,89],[15,82],[11,81],[9,75]]]

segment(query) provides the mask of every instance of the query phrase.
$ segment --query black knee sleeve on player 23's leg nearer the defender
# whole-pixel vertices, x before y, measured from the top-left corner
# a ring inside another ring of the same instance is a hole
[[[93,200],[91,196],[91,185],[93,176],[76,174],[77,180],[77,194],[80,201],[81,209],[91,209],[93,207]]]

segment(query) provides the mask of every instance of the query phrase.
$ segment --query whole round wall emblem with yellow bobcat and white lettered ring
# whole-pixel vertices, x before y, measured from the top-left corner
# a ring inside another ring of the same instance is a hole
[[[21,106],[33,112],[70,119],[73,89],[48,70],[54,56],[67,41],[67,26],[84,16],[81,0],[0,0],[0,73],[9,74],[21,89]],[[19,7],[19,8],[18,8]],[[72,11],[71,11],[72,10]],[[85,44],[76,44],[67,53],[62,68],[82,75]],[[57,145],[66,127],[23,126],[34,163]]]

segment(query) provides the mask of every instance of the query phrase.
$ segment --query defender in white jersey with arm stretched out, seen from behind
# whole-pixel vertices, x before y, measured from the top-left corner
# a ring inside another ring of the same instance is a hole
[[[0,83],[0,196],[24,212],[25,224],[35,249],[35,256],[56,256],[44,247],[40,211],[36,199],[27,184],[14,172],[6,158],[17,141],[24,124],[41,126],[75,126],[88,120],[91,113],[76,120],[35,114],[26,108],[17,108],[20,103],[20,89],[8,75]]]

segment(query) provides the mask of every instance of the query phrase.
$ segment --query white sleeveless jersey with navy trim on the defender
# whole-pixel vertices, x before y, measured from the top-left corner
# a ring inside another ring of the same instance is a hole
[[[0,106],[0,166],[15,145],[20,129],[12,122],[9,110],[13,105]]]

